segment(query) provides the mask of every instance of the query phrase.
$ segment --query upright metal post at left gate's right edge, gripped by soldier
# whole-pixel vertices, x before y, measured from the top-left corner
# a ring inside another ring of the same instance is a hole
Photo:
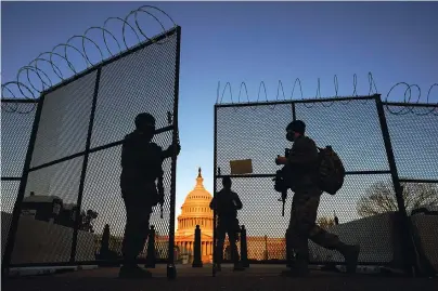
[[[180,81],[180,54],[181,54],[181,27],[177,27],[177,53],[175,61],[175,88],[173,88],[173,132],[172,144],[178,143],[178,102],[179,102],[179,81]],[[177,195],[177,155],[173,151],[171,157],[171,178],[170,178],[170,217],[169,217],[169,257],[167,263],[167,278],[175,279],[177,269],[175,267],[175,200]]]

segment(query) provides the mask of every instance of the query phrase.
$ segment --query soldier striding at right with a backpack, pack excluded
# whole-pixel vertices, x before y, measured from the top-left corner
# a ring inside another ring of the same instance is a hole
[[[349,246],[315,224],[322,190],[318,187],[318,147],[313,140],[305,135],[306,124],[300,120],[291,122],[286,128],[286,138],[294,142],[288,157],[279,157],[276,164],[287,164],[295,191],[291,211],[288,234],[296,260],[289,272],[284,275],[308,274],[308,239],[330,250],[339,251],[347,264],[347,272],[355,273],[358,264],[359,246]]]

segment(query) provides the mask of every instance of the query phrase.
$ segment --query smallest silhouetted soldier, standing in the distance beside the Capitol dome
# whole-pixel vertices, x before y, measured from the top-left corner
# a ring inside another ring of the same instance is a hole
[[[211,199],[210,209],[216,209],[218,215],[218,227],[216,228],[216,269],[221,270],[221,262],[223,259],[223,242],[226,240],[226,233],[231,247],[231,259],[234,262],[234,270],[244,270],[239,257],[237,251],[237,233],[240,232],[237,210],[242,209],[242,201],[239,195],[231,190],[231,178],[222,178],[223,188],[216,194]]]

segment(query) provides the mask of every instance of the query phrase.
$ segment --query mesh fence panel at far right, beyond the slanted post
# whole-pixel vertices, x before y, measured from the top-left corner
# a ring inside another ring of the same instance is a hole
[[[404,208],[417,255],[438,273],[438,115],[437,106],[388,105],[385,115]]]

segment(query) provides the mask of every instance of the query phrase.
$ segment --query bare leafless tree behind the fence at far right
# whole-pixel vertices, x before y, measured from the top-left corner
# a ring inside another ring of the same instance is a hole
[[[404,183],[402,186],[404,207],[408,213],[418,207],[438,206],[438,187],[436,185]],[[357,211],[362,217],[398,211],[392,183],[382,181],[373,184],[358,201]]]

